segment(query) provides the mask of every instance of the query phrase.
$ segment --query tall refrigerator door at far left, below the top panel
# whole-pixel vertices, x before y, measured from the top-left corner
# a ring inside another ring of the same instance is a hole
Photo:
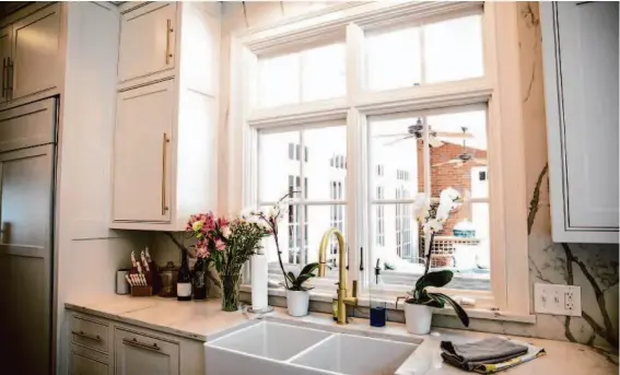
[[[52,144],[0,154],[0,363],[7,374],[49,373],[54,165]]]

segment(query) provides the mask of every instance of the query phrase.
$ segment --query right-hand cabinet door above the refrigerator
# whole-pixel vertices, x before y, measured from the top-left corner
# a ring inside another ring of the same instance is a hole
[[[59,39],[60,3],[13,24],[11,101],[58,85]]]

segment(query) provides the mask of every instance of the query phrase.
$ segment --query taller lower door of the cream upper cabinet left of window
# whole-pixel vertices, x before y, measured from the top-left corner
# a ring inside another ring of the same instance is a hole
[[[171,221],[174,81],[118,94],[114,144],[115,222]]]

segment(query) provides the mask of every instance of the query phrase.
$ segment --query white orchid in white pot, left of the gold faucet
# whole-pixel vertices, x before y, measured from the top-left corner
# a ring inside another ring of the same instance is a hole
[[[276,250],[278,251],[278,262],[284,276],[284,286],[286,288],[286,306],[289,315],[291,316],[305,316],[308,314],[309,293],[312,286],[305,286],[304,283],[311,278],[316,277],[314,271],[318,268],[318,263],[306,265],[301,272],[295,277],[292,271],[284,269],[282,261],[282,251],[280,250],[280,243],[278,241],[278,220],[284,215],[288,209],[285,200],[293,197],[297,191],[291,191],[282,197],[273,207],[268,207],[260,211],[251,211],[249,214],[258,218],[262,223],[269,227],[269,233],[273,235],[276,242]]]

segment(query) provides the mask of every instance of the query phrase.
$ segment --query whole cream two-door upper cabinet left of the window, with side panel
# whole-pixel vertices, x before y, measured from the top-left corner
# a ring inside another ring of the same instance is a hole
[[[113,228],[183,231],[218,209],[220,7],[121,5]]]

